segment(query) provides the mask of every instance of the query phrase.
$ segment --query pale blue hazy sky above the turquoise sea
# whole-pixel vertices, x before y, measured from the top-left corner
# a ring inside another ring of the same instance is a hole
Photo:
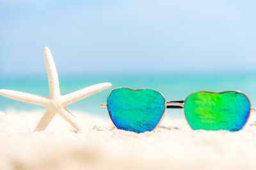
[[[255,1],[0,1],[0,76],[255,71]]]

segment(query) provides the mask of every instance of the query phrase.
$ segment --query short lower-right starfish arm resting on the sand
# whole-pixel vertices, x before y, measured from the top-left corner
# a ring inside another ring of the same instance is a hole
[[[70,111],[67,110],[67,108],[62,108],[59,112],[61,117],[63,117],[68,124],[72,125],[77,131],[85,131],[86,128],[84,127],[79,120],[70,113]]]

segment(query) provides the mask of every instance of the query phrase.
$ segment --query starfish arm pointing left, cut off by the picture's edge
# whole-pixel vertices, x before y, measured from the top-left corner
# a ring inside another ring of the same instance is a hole
[[[14,90],[0,89],[0,95],[17,101],[38,104],[40,106],[47,106],[49,103],[49,99],[47,97]]]

